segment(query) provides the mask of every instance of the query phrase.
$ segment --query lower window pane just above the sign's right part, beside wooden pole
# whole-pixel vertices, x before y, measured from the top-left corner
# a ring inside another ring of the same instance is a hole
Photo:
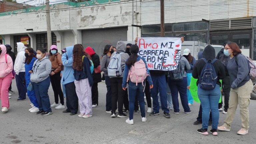
[[[185,41],[200,41],[207,43],[207,32],[173,34],[173,37],[184,37]]]

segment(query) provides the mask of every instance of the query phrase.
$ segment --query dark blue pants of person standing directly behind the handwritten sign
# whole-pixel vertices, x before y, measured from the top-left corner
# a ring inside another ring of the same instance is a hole
[[[158,92],[160,95],[162,110],[166,113],[169,113],[167,108],[167,96],[166,96],[166,79],[165,75],[162,76],[152,76],[154,87],[151,89],[151,94],[153,98],[153,112],[159,113],[159,102],[158,102]]]

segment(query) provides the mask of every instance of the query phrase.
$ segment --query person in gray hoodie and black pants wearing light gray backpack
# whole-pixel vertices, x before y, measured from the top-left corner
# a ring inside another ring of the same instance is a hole
[[[127,117],[127,115],[123,113],[125,91],[122,88],[124,66],[125,66],[126,60],[129,58],[129,54],[124,53],[125,51],[126,51],[126,44],[123,41],[118,41],[117,47],[116,47],[116,53],[122,52],[121,54],[122,74],[119,77],[110,77],[110,85],[111,85],[111,92],[112,92],[112,98],[111,98],[112,111],[111,111],[110,117],[116,117],[117,101],[118,101],[117,117],[119,118]],[[116,53],[113,53],[111,55],[110,61]]]

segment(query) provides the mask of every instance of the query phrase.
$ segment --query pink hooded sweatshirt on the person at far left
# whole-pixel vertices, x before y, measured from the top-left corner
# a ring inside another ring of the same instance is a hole
[[[5,45],[0,45],[2,52],[0,54],[0,79],[6,78],[6,77],[13,77],[12,75],[12,69],[13,69],[13,63],[12,58],[7,55],[5,59],[6,54],[6,47]],[[7,60],[7,63],[6,63]]]

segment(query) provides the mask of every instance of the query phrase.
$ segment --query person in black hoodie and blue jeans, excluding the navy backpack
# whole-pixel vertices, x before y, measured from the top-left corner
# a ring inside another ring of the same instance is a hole
[[[215,50],[211,45],[208,45],[205,47],[204,51],[203,51],[203,57],[206,59],[206,61],[213,61],[215,59]],[[196,79],[200,78],[201,72],[205,66],[205,61],[202,59],[199,59],[193,68],[193,72],[192,72],[192,76]],[[203,110],[203,114],[202,114],[202,128],[198,129],[197,132],[203,135],[208,135],[208,122],[209,122],[209,115],[210,115],[210,111],[212,112],[212,129],[210,130],[210,132],[213,135],[218,135],[217,132],[217,127],[218,127],[218,123],[219,123],[219,111],[218,111],[218,103],[219,103],[219,99],[221,96],[221,92],[220,92],[220,86],[221,83],[219,81],[219,79],[224,79],[225,78],[225,68],[223,66],[223,64],[221,63],[220,60],[216,60],[213,63],[213,66],[215,68],[218,80],[216,83],[216,86],[213,90],[204,90],[202,88],[200,88],[199,86],[199,80],[197,80],[197,85],[198,85],[198,89],[197,89],[197,94],[198,97],[200,99],[201,105],[202,105],[202,110]]]

